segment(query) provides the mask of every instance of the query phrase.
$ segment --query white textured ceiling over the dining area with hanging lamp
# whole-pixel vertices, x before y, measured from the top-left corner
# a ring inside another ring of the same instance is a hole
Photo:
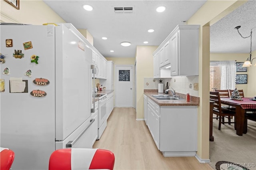
[[[256,1],[250,0],[210,27],[211,53],[249,53],[250,38],[234,28],[241,26],[243,37],[252,30],[252,51],[256,50]]]

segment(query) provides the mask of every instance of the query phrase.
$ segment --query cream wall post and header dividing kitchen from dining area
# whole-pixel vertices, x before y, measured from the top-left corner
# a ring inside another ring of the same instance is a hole
[[[199,24],[199,77],[198,96],[198,159],[209,160],[209,67],[210,67],[210,26],[244,4],[246,1],[208,0],[188,21]],[[203,83],[204,82],[204,83]]]

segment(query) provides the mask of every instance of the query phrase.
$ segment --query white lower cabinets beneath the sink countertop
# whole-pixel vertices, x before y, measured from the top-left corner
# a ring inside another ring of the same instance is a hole
[[[148,129],[163,155],[195,156],[197,106],[159,106],[148,99],[147,107]]]

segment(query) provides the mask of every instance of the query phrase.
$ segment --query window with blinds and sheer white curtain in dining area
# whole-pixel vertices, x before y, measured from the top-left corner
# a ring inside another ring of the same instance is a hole
[[[235,89],[236,61],[210,61],[210,91]]]

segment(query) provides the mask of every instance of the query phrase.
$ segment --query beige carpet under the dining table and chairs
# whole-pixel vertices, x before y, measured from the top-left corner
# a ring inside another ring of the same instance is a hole
[[[234,124],[226,123],[218,130],[218,120],[214,119],[213,136],[214,142],[210,142],[209,164],[214,170],[219,161],[234,162],[250,170],[256,170],[256,166],[248,166],[256,164],[256,122],[248,120],[247,134],[238,136]]]

